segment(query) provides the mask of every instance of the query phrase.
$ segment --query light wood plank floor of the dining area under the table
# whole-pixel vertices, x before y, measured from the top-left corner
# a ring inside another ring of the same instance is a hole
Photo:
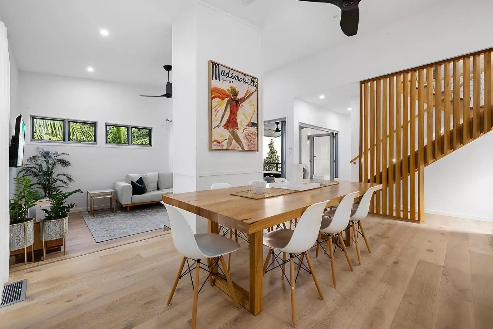
[[[324,300],[311,276],[300,273],[298,328],[492,328],[493,223],[427,215],[416,224],[370,216],[365,231],[372,254],[363,244],[359,266],[350,247],[351,272],[338,250],[336,289],[329,258],[321,252],[316,259],[315,248],[309,252]],[[79,251],[87,246],[83,239],[72,245]],[[231,259],[233,281],[247,288],[247,244]],[[189,277],[166,304],[180,260],[168,234],[18,268],[10,281],[27,278],[27,298],[0,309],[0,328],[190,328]],[[291,328],[289,285],[279,269],[269,272],[264,311],[253,316],[206,283],[197,328]]]

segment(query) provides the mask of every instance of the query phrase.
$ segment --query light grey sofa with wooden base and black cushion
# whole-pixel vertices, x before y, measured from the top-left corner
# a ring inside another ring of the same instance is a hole
[[[147,187],[147,193],[132,195],[130,182],[135,182],[140,177]],[[116,200],[130,211],[132,206],[157,203],[164,194],[172,194],[173,173],[126,174],[125,181],[115,182],[113,189],[116,191]]]

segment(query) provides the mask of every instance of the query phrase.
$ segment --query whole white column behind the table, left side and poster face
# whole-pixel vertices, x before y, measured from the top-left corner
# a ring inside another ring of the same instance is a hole
[[[209,60],[259,78],[258,152],[209,151]],[[211,183],[248,184],[262,178],[262,33],[210,5],[194,1],[173,24],[174,192]],[[207,221],[189,222],[198,232]]]

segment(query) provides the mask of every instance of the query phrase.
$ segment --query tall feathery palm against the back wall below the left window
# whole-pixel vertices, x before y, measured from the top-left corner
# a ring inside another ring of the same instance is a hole
[[[69,187],[73,182],[70,174],[57,173],[58,167],[68,168],[72,164],[64,156],[68,153],[50,151],[44,147],[36,147],[38,154],[27,159],[27,164],[19,170],[21,175],[30,176],[34,179],[34,186],[39,186],[45,198],[50,198],[53,192],[60,187]]]

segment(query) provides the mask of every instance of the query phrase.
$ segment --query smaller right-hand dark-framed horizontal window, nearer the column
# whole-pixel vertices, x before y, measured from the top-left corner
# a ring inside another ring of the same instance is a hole
[[[152,128],[106,123],[106,144],[151,146]]]

